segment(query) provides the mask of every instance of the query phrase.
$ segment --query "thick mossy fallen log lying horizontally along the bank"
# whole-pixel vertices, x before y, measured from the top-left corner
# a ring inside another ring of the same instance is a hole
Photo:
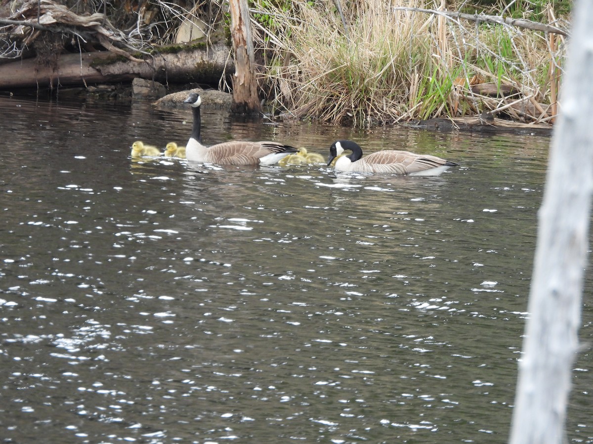
[[[126,82],[140,77],[160,82],[218,83],[231,70],[229,47],[224,44],[191,48],[149,56],[141,62],[99,51],[62,54],[55,67],[41,65],[36,59],[0,65],[0,89],[57,88],[66,85]]]

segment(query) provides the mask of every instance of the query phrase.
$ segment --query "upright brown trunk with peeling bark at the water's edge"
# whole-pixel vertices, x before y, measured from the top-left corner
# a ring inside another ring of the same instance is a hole
[[[247,0],[230,0],[231,38],[235,52],[235,75],[232,78],[233,112],[253,114],[262,111],[257,95],[253,38]]]

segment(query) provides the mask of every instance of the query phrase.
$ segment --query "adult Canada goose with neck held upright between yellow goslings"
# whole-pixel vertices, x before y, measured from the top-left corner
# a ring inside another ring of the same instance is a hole
[[[197,92],[192,92],[184,103],[192,105],[193,112],[192,136],[186,146],[186,157],[191,162],[218,165],[273,165],[282,157],[297,152],[295,147],[273,141],[232,140],[204,146],[200,139],[202,98]]]

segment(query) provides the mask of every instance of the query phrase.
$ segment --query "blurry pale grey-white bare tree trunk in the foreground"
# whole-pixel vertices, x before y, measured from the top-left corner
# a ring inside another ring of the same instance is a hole
[[[524,354],[510,442],[565,439],[593,189],[593,9],[575,2],[562,104],[538,215]]]

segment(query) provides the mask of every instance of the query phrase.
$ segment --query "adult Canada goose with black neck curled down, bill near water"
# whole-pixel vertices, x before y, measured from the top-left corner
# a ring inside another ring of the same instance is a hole
[[[440,157],[419,155],[409,151],[383,150],[362,157],[361,147],[352,140],[338,140],[330,146],[327,165],[345,150],[352,151],[349,156],[336,160],[336,169],[361,173],[394,173],[409,176],[438,176],[457,163]]]

